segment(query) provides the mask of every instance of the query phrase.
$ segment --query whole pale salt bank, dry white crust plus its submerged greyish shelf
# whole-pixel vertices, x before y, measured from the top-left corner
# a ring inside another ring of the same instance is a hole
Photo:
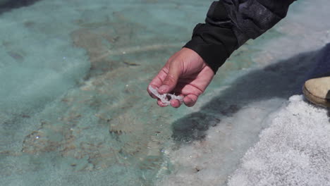
[[[330,185],[329,117],[302,96],[259,101],[166,154],[178,168],[159,186]]]

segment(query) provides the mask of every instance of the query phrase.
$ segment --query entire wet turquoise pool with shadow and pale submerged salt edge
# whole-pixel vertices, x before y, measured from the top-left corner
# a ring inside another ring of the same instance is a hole
[[[297,19],[319,4],[293,6],[295,37],[283,23],[233,54],[192,109],[159,108],[145,89],[211,1],[44,0],[1,14],[0,184],[225,184],[329,41],[318,2],[307,26]]]

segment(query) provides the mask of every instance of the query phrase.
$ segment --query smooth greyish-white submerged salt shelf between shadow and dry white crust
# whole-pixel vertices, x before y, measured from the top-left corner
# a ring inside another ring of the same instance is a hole
[[[243,106],[230,117],[223,117],[209,128],[204,140],[182,144],[179,149],[166,149],[176,168],[157,182],[159,186],[226,185],[228,175],[238,168],[247,149],[267,127],[269,113],[277,111],[285,99],[256,101]]]

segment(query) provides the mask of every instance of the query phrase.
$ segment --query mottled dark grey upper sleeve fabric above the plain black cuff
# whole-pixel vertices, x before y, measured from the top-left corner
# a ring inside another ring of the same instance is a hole
[[[255,39],[286,17],[288,7],[295,0],[222,0],[238,46]]]

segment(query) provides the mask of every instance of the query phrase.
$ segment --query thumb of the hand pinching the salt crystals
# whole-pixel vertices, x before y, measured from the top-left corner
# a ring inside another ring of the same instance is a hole
[[[169,73],[166,75],[163,84],[158,89],[159,94],[169,93],[176,87],[180,72],[180,65],[178,63],[171,63],[169,66]]]

